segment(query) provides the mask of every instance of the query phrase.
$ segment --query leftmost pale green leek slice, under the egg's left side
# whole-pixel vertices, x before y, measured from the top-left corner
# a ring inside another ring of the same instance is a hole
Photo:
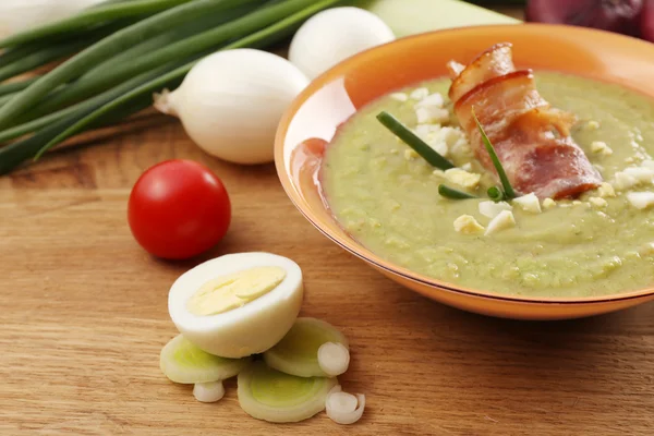
[[[199,384],[225,380],[245,367],[250,359],[225,359],[209,354],[182,335],[172,338],[161,350],[159,366],[174,383]]]

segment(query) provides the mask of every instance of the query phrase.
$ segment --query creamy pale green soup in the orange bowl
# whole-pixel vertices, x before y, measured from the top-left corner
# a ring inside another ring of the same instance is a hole
[[[583,298],[654,284],[654,207],[639,208],[628,198],[654,186],[651,178],[625,183],[621,177],[628,168],[652,167],[654,101],[588,78],[535,76],[546,100],[577,116],[572,136],[602,173],[602,189],[577,201],[545,199],[541,213],[513,205],[516,225],[492,234],[456,230],[453,222],[465,215],[488,226],[480,203],[496,181],[475,160],[447,99],[449,121],[419,126],[419,100],[434,93],[447,96],[449,80],[435,80],[371,102],[339,129],[320,169],[323,194],[339,223],[393,264],[473,289]],[[475,175],[479,185],[452,182],[431,167],[377,121],[382,110],[423,137],[438,136],[433,147]],[[441,197],[439,183],[481,198]]]

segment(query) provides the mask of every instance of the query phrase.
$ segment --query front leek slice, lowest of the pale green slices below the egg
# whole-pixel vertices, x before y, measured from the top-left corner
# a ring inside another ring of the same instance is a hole
[[[336,378],[296,377],[255,362],[239,373],[239,403],[257,420],[291,423],[325,410]]]

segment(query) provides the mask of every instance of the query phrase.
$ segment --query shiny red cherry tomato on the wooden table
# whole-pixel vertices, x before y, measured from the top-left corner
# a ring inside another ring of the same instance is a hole
[[[216,174],[191,160],[167,160],[134,184],[128,220],[138,244],[154,256],[185,259],[216,245],[231,222],[231,203]]]

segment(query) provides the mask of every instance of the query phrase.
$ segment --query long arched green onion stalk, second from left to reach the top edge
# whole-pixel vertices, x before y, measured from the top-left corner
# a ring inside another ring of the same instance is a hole
[[[230,8],[252,1],[255,0],[192,1],[158,13],[108,36],[45,74],[16,98],[0,108],[0,129],[7,128],[17,117],[36,106],[50,90],[82,75],[109,57],[128,50],[144,39],[165,33],[182,22],[199,19],[209,13],[221,13]]]

